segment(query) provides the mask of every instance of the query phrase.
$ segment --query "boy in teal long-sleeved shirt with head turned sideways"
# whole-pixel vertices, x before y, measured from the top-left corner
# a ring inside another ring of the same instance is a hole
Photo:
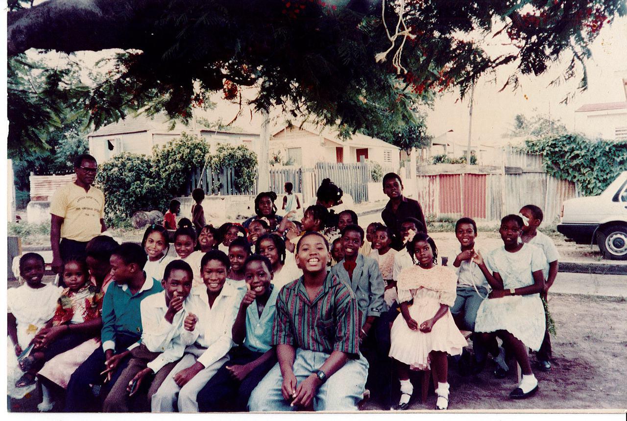
[[[65,412],[99,410],[92,386],[102,382],[113,385],[129,362],[130,350],[142,335],[140,303],[142,299],[163,291],[161,282],[146,279],[145,251],[139,244],[125,242],[111,254],[113,278],[102,303],[102,346],[93,351],[71,375]]]

